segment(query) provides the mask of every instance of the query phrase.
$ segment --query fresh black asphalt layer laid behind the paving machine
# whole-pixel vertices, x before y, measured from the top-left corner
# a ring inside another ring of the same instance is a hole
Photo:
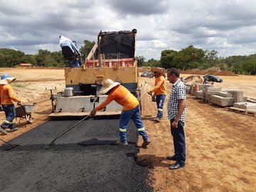
[[[0,191],[152,191],[149,171],[136,163],[133,122],[128,146],[116,146],[118,119],[88,119],[48,144],[78,120],[48,121],[0,147]]]

